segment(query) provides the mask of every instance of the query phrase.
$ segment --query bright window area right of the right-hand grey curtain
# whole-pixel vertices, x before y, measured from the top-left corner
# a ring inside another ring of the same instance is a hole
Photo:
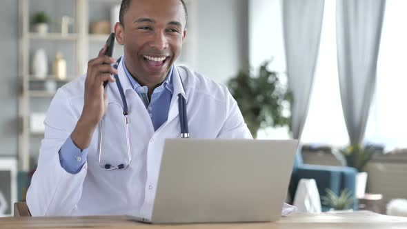
[[[377,88],[365,139],[388,150],[407,147],[407,1],[386,1]]]

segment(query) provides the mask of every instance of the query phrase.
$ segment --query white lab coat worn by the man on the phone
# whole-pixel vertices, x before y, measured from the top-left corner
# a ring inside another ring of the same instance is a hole
[[[192,138],[252,138],[235,99],[225,86],[188,68],[177,67],[168,121],[155,131],[149,113],[119,64],[119,79],[130,112],[129,132],[132,163],[126,170],[105,171],[99,167],[99,128],[88,148],[82,170],[72,175],[59,162],[59,148],[75,128],[83,108],[86,76],[63,86],[55,94],[45,120],[38,167],[27,193],[33,216],[140,215],[150,218],[157,178],[167,138],[180,137],[177,94],[186,97],[188,126]],[[116,83],[106,88],[109,104],[122,104]],[[108,108],[103,122],[103,157],[112,165],[126,162],[123,112]],[[183,163],[179,161],[179,163]]]

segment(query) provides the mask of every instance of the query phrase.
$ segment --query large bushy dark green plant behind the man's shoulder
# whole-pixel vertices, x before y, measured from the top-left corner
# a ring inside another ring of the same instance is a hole
[[[257,74],[252,74],[250,68],[240,70],[228,81],[230,93],[254,138],[259,128],[290,128],[292,94],[282,85],[277,72],[268,70],[270,63],[265,61]]]

